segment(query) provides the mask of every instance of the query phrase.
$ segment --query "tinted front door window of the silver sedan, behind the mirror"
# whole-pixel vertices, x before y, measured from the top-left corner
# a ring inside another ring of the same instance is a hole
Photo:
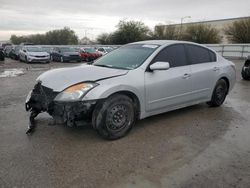
[[[170,67],[180,67],[187,65],[186,53],[182,44],[171,45],[160,51],[153,62],[169,62]]]

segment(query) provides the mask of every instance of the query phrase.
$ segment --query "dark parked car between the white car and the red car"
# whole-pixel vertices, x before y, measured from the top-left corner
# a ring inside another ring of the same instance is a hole
[[[51,52],[51,60],[58,62],[81,62],[80,53],[72,47],[55,47]]]

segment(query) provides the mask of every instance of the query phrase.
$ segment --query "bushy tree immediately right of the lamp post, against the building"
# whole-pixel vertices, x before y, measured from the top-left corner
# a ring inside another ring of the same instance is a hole
[[[221,42],[219,30],[208,24],[197,24],[187,26],[181,38],[183,40],[202,44]]]

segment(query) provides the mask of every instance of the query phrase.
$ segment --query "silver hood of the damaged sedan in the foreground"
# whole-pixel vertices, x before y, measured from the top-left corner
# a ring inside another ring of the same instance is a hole
[[[109,77],[127,74],[128,70],[111,69],[94,65],[80,65],[70,68],[59,68],[46,71],[41,74],[37,81],[42,85],[61,92],[67,87],[87,81],[97,81]]]

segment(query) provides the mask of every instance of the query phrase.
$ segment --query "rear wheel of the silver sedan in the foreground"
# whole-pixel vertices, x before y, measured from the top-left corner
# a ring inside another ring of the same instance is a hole
[[[220,79],[214,88],[211,101],[207,102],[209,106],[218,107],[223,104],[228,93],[228,85],[224,79]]]

